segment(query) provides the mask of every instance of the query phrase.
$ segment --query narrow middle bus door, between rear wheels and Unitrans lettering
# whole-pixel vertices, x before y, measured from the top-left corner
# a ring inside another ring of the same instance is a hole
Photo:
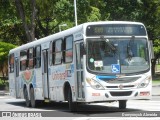
[[[44,98],[49,98],[49,80],[48,80],[48,50],[42,51],[42,86]]]

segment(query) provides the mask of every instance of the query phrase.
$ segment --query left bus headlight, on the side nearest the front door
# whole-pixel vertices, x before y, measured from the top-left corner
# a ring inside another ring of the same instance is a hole
[[[87,78],[86,81],[92,88],[97,90],[104,90],[104,87],[93,78],[92,79]]]

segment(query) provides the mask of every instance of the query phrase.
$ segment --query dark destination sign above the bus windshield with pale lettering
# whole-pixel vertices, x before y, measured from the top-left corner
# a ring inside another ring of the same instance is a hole
[[[142,25],[131,24],[105,24],[89,25],[86,30],[87,36],[144,36],[146,30]]]

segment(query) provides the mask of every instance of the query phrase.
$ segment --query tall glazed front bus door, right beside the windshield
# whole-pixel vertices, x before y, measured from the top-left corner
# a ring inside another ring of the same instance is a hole
[[[76,53],[76,83],[77,83],[77,97],[79,100],[84,98],[83,92],[83,82],[84,82],[84,72],[83,72],[83,42],[78,42],[75,44]]]

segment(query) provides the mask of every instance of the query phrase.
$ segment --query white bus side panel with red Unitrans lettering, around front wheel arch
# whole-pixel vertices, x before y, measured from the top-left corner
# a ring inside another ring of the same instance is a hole
[[[49,76],[51,100],[64,101],[65,82],[68,82],[70,84],[72,92],[75,91],[73,69],[74,69],[73,64],[65,64],[60,66],[57,65],[52,67],[51,75]],[[75,92],[73,95],[75,97]]]

